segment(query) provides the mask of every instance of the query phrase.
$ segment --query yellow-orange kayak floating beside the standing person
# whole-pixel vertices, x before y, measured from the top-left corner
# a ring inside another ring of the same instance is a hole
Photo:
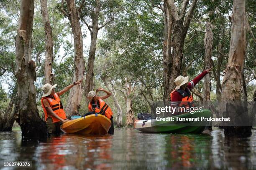
[[[108,117],[96,113],[65,122],[61,125],[61,130],[64,133],[80,135],[105,135],[110,127],[111,121]]]

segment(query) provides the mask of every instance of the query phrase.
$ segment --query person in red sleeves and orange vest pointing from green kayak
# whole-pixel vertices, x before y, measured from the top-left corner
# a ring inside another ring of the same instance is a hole
[[[205,75],[211,72],[212,67],[203,71],[200,75],[195,77],[192,81],[188,82],[189,77],[178,76],[174,83],[175,89],[171,92],[171,107],[194,107],[193,97],[190,93],[193,87],[199,82]],[[174,112],[177,115],[181,112]]]

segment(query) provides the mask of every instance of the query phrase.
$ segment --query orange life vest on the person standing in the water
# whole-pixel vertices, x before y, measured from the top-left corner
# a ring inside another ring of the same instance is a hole
[[[43,103],[43,100],[44,100],[44,99],[48,100],[48,102],[49,102],[49,104],[50,104],[50,106],[51,106],[51,109],[53,110],[53,112],[54,112],[56,115],[58,115],[59,117],[61,117],[61,119],[63,119],[63,120],[64,120],[64,119],[67,119],[66,113],[65,113],[65,111],[64,111],[64,109],[63,109],[63,105],[62,105],[62,103],[61,103],[61,101],[60,101],[59,95],[57,95],[57,93],[54,93],[53,96],[54,96],[54,99],[52,99],[51,97],[42,97],[42,98],[41,98],[41,104],[42,104],[42,107],[43,107],[43,110],[44,110],[45,121],[46,121],[47,117],[50,116],[50,115],[48,115],[47,110],[46,110],[46,108],[44,107],[44,103]],[[55,118],[55,117],[53,117],[53,116],[51,116],[51,118],[52,118],[52,120],[53,120],[54,123],[60,121],[59,119],[57,119],[57,118]]]

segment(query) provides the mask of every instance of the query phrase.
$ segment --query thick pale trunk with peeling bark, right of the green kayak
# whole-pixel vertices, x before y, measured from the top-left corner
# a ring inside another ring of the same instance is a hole
[[[241,79],[246,52],[245,25],[245,0],[234,0],[228,65],[223,78],[223,115],[230,117],[233,124],[224,127],[226,136],[251,135],[250,126],[239,126],[249,120],[247,107],[241,103]]]

